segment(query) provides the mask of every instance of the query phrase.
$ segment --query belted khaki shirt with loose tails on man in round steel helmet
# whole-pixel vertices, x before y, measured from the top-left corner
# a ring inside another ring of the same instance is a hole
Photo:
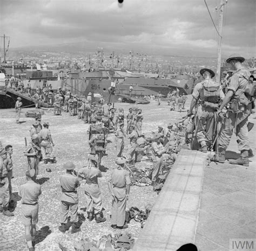
[[[60,176],[59,182],[63,189],[60,200],[74,204],[78,203],[77,187],[80,185],[78,178],[71,173],[65,173]]]

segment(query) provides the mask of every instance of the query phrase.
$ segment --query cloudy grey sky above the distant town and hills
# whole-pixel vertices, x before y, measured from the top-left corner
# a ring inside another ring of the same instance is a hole
[[[220,0],[206,2],[218,27]],[[256,56],[255,2],[225,4],[224,56]],[[0,33],[11,37],[13,48],[78,43],[87,51],[217,55],[218,35],[204,0],[1,0]]]

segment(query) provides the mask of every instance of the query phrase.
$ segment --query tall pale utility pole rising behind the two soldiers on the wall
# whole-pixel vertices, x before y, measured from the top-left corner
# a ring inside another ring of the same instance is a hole
[[[220,0],[219,8],[215,8],[219,11],[219,27],[218,27],[218,59],[217,59],[217,72],[216,72],[216,82],[220,83],[220,66],[221,66],[221,41],[223,32],[223,16],[224,16],[224,6],[227,4],[227,0]]]

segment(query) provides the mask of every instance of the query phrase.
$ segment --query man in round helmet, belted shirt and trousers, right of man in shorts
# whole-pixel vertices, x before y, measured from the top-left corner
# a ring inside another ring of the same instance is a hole
[[[64,175],[60,175],[59,182],[62,187],[62,196],[60,197],[60,223],[59,231],[65,233],[68,229],[68,213],[70,211],[70,221],[72,222],[71,234],[81,231],[78,226],[78,194],[77,187],[80,185],[78,177],[73,175],[75,164],[67,162],[63,165],[66,169]]]

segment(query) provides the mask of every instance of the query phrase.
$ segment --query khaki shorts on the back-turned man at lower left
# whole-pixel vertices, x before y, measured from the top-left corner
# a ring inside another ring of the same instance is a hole
[[[22,204],[22,224],[24,226],[36,225],[38,222],[38,204]]]

